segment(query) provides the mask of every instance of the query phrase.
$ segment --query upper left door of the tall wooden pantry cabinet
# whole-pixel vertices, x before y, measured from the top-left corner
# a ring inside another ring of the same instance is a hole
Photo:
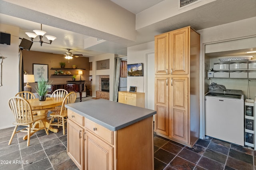
[[[155,74],[168,74],[169,34],[155,36]]]

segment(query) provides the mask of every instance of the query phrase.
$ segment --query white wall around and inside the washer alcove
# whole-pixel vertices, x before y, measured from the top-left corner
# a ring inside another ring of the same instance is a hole
[[[229,24],[207,28],[198,31],[200,35],[200,138],[204,138],[204,45],[218,41],[228,41],[235,38],[243,38],[256,35],[256,17],[240,20]],[[209,59],[208,59],[209,60]],[[241,79],[214,79],[217,84],[223,84],[227,89],[242,89],[247,91],[248,80]],[[207,86],[206,86],[207,88]],[[256,80],[250,82],[252,91],[256,91]],[[207,91],[207,90],[206,90]],[[251,91],[251,92],[252,92]],[[254,96],[251,93],[251,98]]]

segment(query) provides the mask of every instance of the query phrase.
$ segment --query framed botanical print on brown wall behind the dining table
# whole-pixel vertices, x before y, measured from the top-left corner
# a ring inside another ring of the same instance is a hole
[[[33,74],[35,82],[38,82],[41,77],[48,81],[48,64],[33,64]]]

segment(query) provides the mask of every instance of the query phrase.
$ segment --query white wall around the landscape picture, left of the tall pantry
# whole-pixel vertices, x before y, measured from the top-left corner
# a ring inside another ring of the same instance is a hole
[[[127,77],[127,90],[130,86],[136,86],[137,92],[146,93],[146,56],[147,54],[154,53],[154,41],[143,43],[140,45],[134,45],[127,48],[127,64],[143,63],[143,77]],[[155,69],[148,68],[148,69]],[[155,79],[155,77],[148,77],[148,79]],[[154,93],[154,91],[152,91]],[[145,94],[146,96],[147,94]],[[145,103],[147,103],[145,99]]]

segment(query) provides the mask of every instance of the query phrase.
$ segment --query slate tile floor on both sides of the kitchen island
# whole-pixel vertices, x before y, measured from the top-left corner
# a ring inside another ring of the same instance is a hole
[[[15,135],[8,145],[13,128],[0,130],[0,170],[76,170],[67,155],[67,136],[44,130],[31,136],[30,146]],[[254,170],[256,152],[220,140],[198,140],[193,148],[154,134],[155,170]],[[256,166],[255,166],[256,167]]]

